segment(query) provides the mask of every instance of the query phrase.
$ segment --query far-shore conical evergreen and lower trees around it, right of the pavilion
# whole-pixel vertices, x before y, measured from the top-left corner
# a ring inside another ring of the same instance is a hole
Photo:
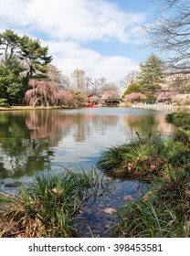
[[[171,73],[171,69],[165,65],[164,61],[153,54],[140,64],[140,71],[132,70],[124,80],[121,80],[124,88],[123,97],[135,92],[146,96],[148,101],[157,99],[162,101],[166,95],[168,98],[177,93],[190,93],[189,79],[188,74]],[[142,100],[144,100],[143,95],[140,97]],[[138,94],[136,96],[138,97]]]

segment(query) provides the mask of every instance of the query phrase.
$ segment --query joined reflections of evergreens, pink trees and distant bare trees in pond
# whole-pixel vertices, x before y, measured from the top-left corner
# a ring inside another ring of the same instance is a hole
[[[49,169],[53,148],[68,134],[81,142],[90,133],[105,133],[118,119],[52,110],[0,112],[0,177],[33,176]]]

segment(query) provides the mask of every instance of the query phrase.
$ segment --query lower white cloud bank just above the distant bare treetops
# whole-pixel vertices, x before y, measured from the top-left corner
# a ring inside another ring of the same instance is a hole
[[[45,43],[46,44],[46,43]],[[131,59],[121,56],[102,56],[89,48],[82,48],[73,42],[49,42],[49,52],[54,56],[53,62],[70,75],[74,69],[84,69],[86,75],[93,79],[105,77],[110,82],[118,82],[139,66]]]

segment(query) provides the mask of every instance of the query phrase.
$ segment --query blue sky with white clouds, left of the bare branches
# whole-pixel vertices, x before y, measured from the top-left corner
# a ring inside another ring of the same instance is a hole
[[[65,75],[83,69],[119,85],[151,54],[142,26],[153,10],[148,0],[0,0],[0,32],[39,38]]]

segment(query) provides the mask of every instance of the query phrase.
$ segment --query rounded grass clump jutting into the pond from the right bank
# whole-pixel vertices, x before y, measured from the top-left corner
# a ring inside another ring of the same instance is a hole
[[[158,175],[166,165],[165,145],[162,141],[138,140],[121,144],[104,152],[97,167],[111,176],[125,176],[149,180]]]

